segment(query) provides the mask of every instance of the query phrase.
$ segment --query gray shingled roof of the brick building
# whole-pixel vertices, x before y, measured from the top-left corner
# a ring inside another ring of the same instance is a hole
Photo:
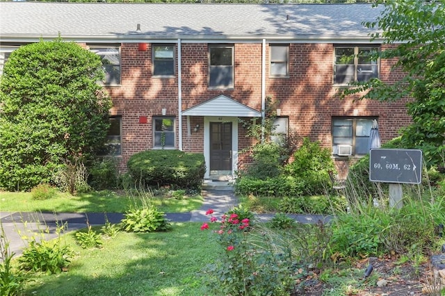
[[[300,38],[351,40],[382,8],[369,4],[0,2],[0,38]],[[136,33],[140,24],[141,33]]]

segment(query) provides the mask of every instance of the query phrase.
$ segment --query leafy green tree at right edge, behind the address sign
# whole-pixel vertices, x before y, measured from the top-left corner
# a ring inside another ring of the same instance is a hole
[[[403,145],[422,148],[429,164],[438,163],[445,153],[444,1],[380,0],[378,5],[384,5],[380,17],[365,25],[382,33],[371,35],[371,40],[383,38],[384,43],[396,45],[376,55],[396,58],[394,67],[405,76],[393,84],[380,79],[353,83],[357,88],[343,95],[369,90],[362,98],[391,101],[412,97],[407,112],[413,123],[403,129]]]

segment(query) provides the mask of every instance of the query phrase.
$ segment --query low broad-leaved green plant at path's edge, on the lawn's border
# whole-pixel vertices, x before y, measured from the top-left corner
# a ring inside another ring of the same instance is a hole
[[[128,232],[167,231],[170,223],[163,212],[154,206],[133,208],[127,211],[122,219],[122,229]]]

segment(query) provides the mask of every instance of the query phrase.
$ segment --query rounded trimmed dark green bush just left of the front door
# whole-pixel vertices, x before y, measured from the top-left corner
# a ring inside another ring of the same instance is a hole
[[[184,189],[201,188],[206,171],[203,154],[164,149],[134,154],[127,167],[136,183]]]

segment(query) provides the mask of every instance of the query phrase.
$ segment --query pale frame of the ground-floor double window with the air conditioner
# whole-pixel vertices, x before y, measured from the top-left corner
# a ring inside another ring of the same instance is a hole
[[[365,156],[368,154],[368,142],[369,133],[371,131],[371,126],[373,120],[378,120],[378,117],[332,117],[331,119],[331,138],[332,138],[332,154],[335,157],[339,156],[339,145],[350,145],[351,155],[350,156]],[[336,122],[337,121],[337,122]],[[362,121],[366,123],[365,129],[363,129],[363,124],[357,124],[357,122]],[[341,122],[348,124],[341,124]],[[349,124],[350,123],[350,124]],[[336,129],[337,128],[337,129]],[[341,136],[341,129],[350,129],[350,134],[348,136]],[[364,139],[367,138],[366,145],[364,144]],[[361,142],[360,147],[362,147],[363,153],[357,151],[357,145]]]

